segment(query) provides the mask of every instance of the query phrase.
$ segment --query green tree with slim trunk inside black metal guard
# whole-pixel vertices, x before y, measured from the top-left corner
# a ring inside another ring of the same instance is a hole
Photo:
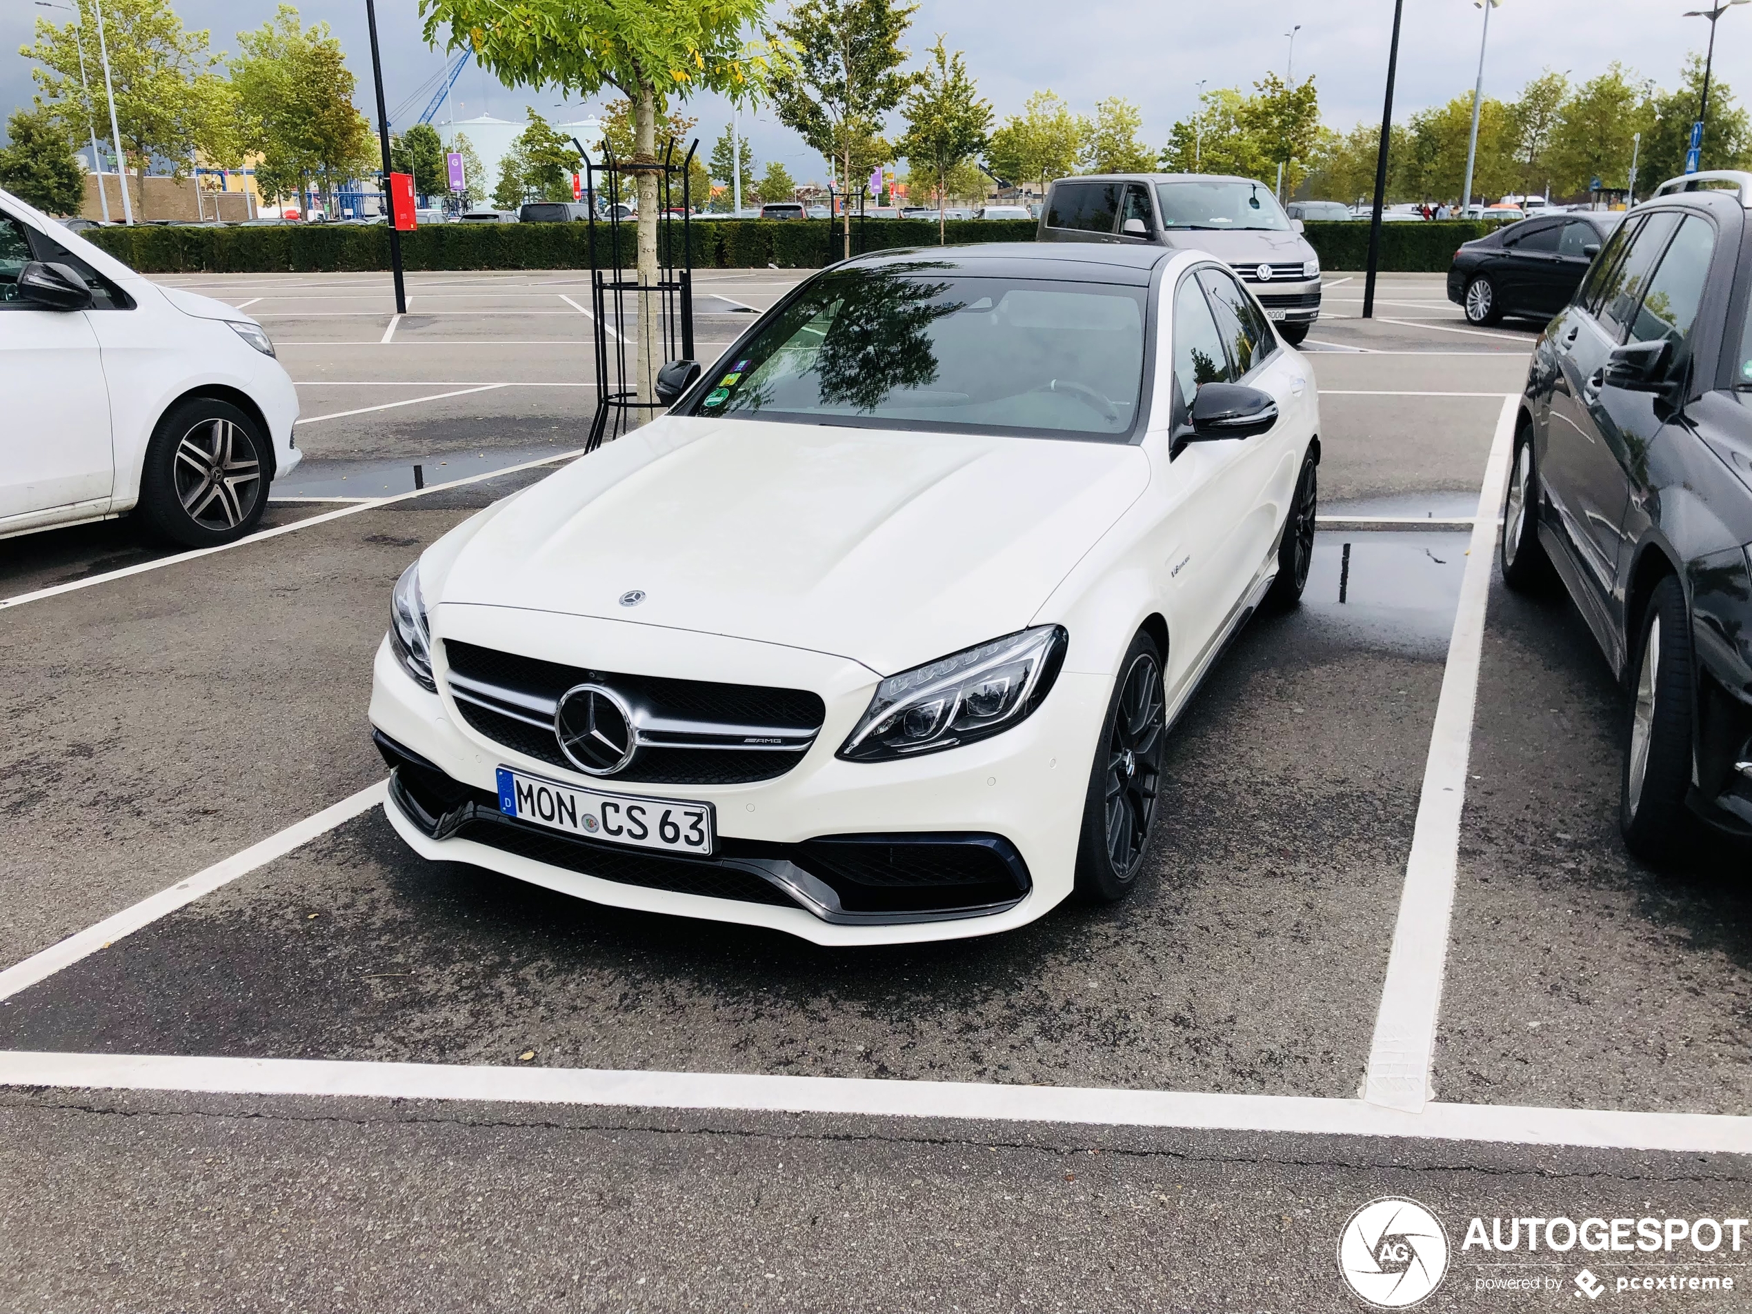
[[[671,100],[720,91],[750,100],[780,47],[755,47],[743,32],[766,12],[766,0],[420,0],[426,40],[447,30],[447,49],[473,47],[475,58],[506,86],[557,88],[592,98],[611,86],[632,102],[632,156],[638,179],[638,335],[634,396],[657,399],[662,364],[657,314],[657,117]]]

